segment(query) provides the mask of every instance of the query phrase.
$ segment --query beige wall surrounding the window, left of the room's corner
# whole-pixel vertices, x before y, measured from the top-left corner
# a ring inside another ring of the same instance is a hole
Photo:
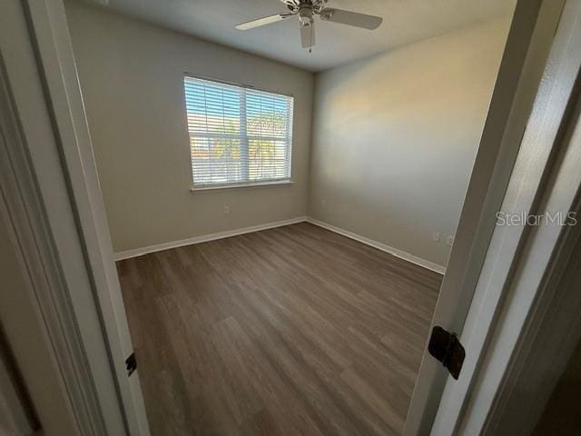
[[[306,213],[313,74],[78,2],[66,7],[116,252]],[[184,72],[294,95],[294,184],[190,192]]]

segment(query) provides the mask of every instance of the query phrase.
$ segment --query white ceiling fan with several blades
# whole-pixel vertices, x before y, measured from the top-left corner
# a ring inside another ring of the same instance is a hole
[[[359,14],[357,12],[345,11],[325,7],[328,0],[281,0],[287,5],[291,12],[264,16],[257,20],[237,25],[238,30],[249,30],[261,25],[270,25],[279,21],[288,20],[294,15],[299,15],[300,42],[304,48],[310,48],[315,45],[315,22],[314,16],[319,15],[323,21],[340,23],[341,25],[354,25],[364,29],[377,29],[383,18],[375,15]]]

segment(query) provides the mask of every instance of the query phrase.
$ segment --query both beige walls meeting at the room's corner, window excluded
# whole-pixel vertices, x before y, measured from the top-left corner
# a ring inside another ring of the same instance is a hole
[[[508,18],[315,80],[79,2],[67,15],[116,252],[309,213],[447,263]],[[294,184],[190,192],[184,72],[295,96]]]

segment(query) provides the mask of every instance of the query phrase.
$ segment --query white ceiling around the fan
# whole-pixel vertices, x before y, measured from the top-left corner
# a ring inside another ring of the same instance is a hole
[[[103,0],[91,0],[106,3]],[[280,0],[109,0],[107,9],[208,41],[321,71],[512,13],[516,0],[330,0],[328,6],[383,17],[369,31],[316,20],[317,45],[300,47],[296,18],[240,31],[234,25],[286,11]]]

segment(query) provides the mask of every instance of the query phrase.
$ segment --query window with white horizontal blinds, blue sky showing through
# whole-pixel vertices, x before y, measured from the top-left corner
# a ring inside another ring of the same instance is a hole
[[[291,179],[292,97],[190,76],[183,85],[194,189]]]

